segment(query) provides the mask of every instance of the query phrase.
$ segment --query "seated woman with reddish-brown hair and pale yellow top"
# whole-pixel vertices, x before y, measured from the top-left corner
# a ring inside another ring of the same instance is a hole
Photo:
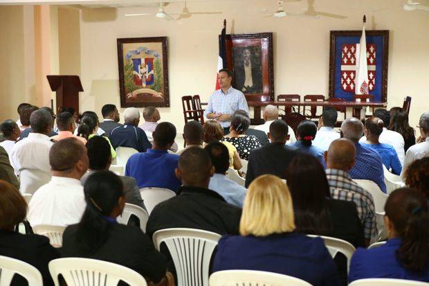
[[[204,145],[213,142],[219,142],[223,138],[223,128],[221,124],[215,120],[208,120],[203,125],[203,141]],[[235,170],[240,170],[242,166],[239,154],[237,152],[237,148],[234,147],[229,142],[222,142],[226,148],[228,148],[228,153],[230,156],[230,168],[234,168]]]

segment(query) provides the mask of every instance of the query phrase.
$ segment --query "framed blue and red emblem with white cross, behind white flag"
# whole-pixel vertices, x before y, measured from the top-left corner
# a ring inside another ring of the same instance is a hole
[[[374,102],[387,102],[388,30],[365,30],[369,94]],[[331,30],[329,98],[354,101],[356,56],[362,30]]]

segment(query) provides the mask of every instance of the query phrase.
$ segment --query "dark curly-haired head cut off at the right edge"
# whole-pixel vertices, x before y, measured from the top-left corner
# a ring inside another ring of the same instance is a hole
[[[416,160],[408,166],[405,171],[405,184],[423,193],[429,204],[429,157]]]

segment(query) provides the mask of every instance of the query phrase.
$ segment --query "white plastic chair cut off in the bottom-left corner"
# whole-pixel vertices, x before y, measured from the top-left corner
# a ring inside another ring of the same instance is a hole
[[[15,274],[26,278],[28,286],[43,286],[42,274],[36,267],[15,258],[0,256],[0,285],[10,285]]]

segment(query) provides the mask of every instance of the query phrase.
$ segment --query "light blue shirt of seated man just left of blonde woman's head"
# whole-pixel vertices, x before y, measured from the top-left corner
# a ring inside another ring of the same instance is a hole
[[[225,175],[213,175],[210,178],[208,188],[221,195],[229,204],[243,208],[244,197],[246,197],[247,193],[246,188],[235,183],[235,181],[231,181]]]

